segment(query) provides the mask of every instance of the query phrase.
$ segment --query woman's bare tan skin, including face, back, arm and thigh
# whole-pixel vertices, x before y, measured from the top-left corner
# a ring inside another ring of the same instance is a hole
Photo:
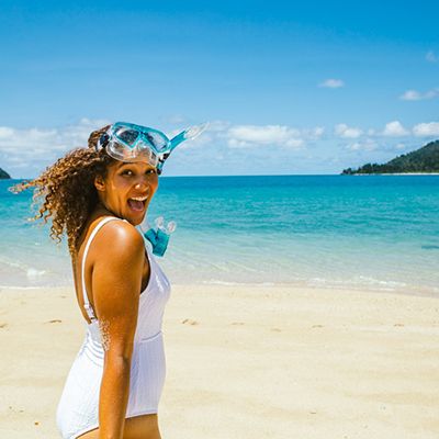
[[[160,439],[157,414],[125,418],[139,294],[149,280],[144,240],[134,226],[142,223],[157,190],[157,172],[147,162],[117,161],[109,167],[105,179],[95,178],[94,185],[100,203],[90,215],[74,262],[77,299],[88,323],[81,282],[78,282],[81,279],[85,243],[104,216],[117,216],[128,223],[106,223],[95,235],[87,255],[86,288],[101,330],[104,328],[108,346],[99,401],[100,427],[78,438]],[[130,205],[130,198],[145,195],[148,199],[143,209],[136,210]]]

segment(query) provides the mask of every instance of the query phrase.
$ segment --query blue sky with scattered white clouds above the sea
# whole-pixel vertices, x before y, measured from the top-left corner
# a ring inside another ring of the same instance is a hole
[[[0,167],[123,120],[210,121],[164,175],[338,173],[439,138],[437,2],[10,1]]]

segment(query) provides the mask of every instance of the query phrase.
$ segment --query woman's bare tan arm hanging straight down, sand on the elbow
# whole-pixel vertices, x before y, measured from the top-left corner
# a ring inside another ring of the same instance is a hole
[[[145,244],[131,225],[111,222],[97,245],[92,291],[105,350],[99,398],[99,437],[122,439],[137,325]]]

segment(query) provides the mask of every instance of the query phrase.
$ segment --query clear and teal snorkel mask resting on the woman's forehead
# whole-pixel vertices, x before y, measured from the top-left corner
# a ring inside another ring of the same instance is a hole
[[[169,139],[161,131],[116,122],[99,138],[95,150],[105,148],[110,157],[120,161],[147,161],[160,175],[172,150],[182,142],[198,137],[206,126],[206,123],[191,126]]]

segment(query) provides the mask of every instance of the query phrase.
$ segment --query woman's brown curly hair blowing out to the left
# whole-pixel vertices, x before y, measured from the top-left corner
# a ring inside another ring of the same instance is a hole
[[[50,237],[58,243],[66,233],[74,259],[86,222],[99,201],[94,178],[105,178],[109,165],[115,161],[104,149],[95,150],[99,137],[109,126],[90,134],[88,148],[68,151],[36,179],[11,188],[15,193],[35,188],[33,204],[38,205],[38,212],[31,219],[43,218],[45,224],[52,219]]]

